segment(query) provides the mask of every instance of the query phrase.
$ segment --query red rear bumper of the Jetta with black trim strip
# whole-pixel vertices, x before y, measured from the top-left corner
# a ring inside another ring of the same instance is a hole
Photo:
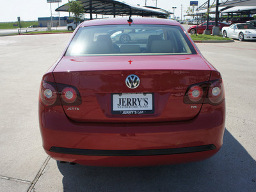
[[[39,105],[45,152],[60,161],[93,166],[150,166],[207,159],[222,145],[225,101],[204,104],[184,122],[140,124],[77,123],[61,107]]]

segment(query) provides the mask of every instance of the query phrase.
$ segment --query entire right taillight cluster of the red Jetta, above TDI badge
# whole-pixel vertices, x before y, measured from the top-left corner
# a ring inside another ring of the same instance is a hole
[[[191,84],[185,93],[184,103],[200,104],[204,102],[218,105],[224,99],[224,86],[223,81],[220,78],[209,82]]]

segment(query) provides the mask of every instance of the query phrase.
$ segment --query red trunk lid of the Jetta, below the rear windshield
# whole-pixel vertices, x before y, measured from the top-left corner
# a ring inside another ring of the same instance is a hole
[[[78,122],[189,120],[202,104],[184,104],[186,90],[191,84],[209,81],[210,74],[198,55],[66,56],[54,69],[56,83],[79,91],[81,105],[63,106],[67,116]],[[131,75],[140,78],[137,88],[126,84]]]

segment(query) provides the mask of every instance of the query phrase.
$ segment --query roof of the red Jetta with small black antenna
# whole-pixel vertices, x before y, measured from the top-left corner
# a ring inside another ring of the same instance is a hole
[[[112,24],[128,24],[129,17],[111,18],[111,19],[93,19],[84,21],[80,27],[85,26],[100,26],[100,25],[112,25]],[[142,18],[131,17],[132,24],[160,24],[160,25],[172,25],[180,26],[179,22],[170,19],[156,19],[156,18]]]

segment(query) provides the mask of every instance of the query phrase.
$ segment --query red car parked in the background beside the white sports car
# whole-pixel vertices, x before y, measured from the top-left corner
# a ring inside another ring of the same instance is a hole
[[[204,22],[203,24],[200,24],[198,26],[191,26],[188,29],[188,33],[190,33],[191,35],[193,34],[203,34],[204,30],[206,29],[207,26],[207,22]],[[209,21],[209,30],[212,30],[212,28],[215,26],[215,22],[214,21]],[[230,24],[228,24],[227,22],[218,22],[218,26],[220,27],[220,30],[224,27],[224,26],[230,26]]]

